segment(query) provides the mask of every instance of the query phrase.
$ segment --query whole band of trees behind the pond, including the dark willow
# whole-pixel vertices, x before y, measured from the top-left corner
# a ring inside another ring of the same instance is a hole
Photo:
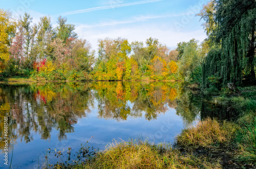
[[[240,8],[236,8],[236,7]],[[235,11],[235,14],[233,13]],[[180,42],[170,50],[158,39],[145,43],[125,38],[98,40],[92,49],[75,25],[59,16],[53,27],[44,16],[32,24],[28,13],[13,18],[1,9],[0,80],[185,80],[218,92],[227,83],[255,83],[255,2],[211,1],[198,14],[207,38]]]

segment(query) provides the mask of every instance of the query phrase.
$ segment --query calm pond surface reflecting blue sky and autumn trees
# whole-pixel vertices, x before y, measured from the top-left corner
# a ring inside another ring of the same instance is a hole
[[[0,129],[8,117],[8,134],[1,135],[0,168],[9,168],[4,164],[6,152],[8,164],[13,155],[12,168],[41,168],[46,156],[48,163],[60,160],[47,154],[48,149],[76,152],[90,138],[88,146],[100,150],[115,140],[139,138],[173,144],[187,126],[207,116],[220,116],[212,106],[180,83],[2,84]],[[227,116],[224,111],[220,119]],[[6,136],[8,151],[3,142]]]

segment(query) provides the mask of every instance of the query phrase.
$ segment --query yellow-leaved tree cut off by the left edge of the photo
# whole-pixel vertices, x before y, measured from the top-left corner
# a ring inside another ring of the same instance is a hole
[[[15,34],[16,24],[8,10],[0,9],[0,60],[9,59],[9,47]]]

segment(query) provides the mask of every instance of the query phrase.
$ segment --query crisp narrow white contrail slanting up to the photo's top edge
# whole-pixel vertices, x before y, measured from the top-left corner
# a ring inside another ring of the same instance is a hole
[[[133,6],[133,5],[154,3],[154,2],[159,2],[159,1],[163,1],[163,0],[147,0],[147,1],[138,1],[138,2],[134,2],[134,3],[111,5],[111,6],[105,6],[105,7],[88,8],[88,9],[82,9],[82,10],[77,10],[77,11],[65,12],[65,13],[62,13],[61,15],[66,16],[66,15],[73,15],[73,14],[86,13],[86,12],[92,12],[92,11],[98,11],[98,10],[105,10],[105,9],[129,7],[129,6]]]

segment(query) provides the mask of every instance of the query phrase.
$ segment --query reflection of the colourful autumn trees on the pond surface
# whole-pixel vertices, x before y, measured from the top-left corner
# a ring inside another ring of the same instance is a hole
[[[196,100],[196,102],[195,102]],[[31,142],[33,132],[50,139],[53,129],[58,139],[74,132],[74,124],[98,110],[98,118],[125,121],[127,118],[154,120],[175,108],[186,125],[200,113],[200,101],[181,83],[171,82],[77,82],[33,83],[0,86],[0,119],[8,116],[9,135],[17,142]],[[4,145],[1,142],[0,148]]]

